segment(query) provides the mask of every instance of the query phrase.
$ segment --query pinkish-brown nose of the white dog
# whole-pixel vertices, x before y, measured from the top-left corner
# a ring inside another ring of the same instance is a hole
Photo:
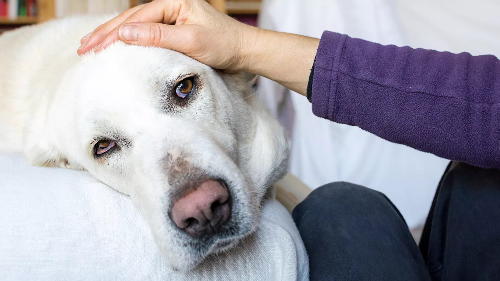
[[[229,192],[225,184],[206,180],[172,204],[173,222],[192,237],[217,233],[231,214]]]

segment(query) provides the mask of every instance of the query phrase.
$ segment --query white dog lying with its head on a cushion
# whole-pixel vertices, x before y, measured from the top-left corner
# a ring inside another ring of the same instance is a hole
[[[79,57],[79,39],[107,18],[0,36],[0,150],[130,195],[165,262],[189,270],[255,230],[285,171],[283,130],[243,73],[121,42]]]

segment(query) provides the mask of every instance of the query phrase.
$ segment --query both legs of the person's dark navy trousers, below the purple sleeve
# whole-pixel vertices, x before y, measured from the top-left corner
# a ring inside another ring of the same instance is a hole
[[[500,170],[448,165],[419,247],[382,193],[323,185],[293,210],[310,280],[500,280]]]

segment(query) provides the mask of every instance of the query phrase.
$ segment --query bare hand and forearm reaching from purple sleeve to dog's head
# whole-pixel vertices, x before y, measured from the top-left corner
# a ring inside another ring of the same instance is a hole
[[[182,52],[213,68],[247,71],[305,95],[319,39],[241,23],[205,0],[154,0],[132,7],[81,39],[78,54],[114,41]]]

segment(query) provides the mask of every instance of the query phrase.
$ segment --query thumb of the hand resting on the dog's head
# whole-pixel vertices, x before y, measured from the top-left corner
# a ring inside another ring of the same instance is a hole
[[[132,22],[118,28],[118,38],[125,43],[156,46],[183,52],[196,36],[191,26],[155,22]]]

